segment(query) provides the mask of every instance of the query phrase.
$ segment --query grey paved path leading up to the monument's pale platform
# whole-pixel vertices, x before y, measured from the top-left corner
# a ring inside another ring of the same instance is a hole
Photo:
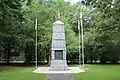
[[[47,80],[74,80],[72,74],[60,73],[60,74],[48,74]]]

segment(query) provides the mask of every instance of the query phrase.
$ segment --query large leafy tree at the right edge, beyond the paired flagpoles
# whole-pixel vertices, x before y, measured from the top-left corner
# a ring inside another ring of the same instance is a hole
[[[93,0],[94,1],[94,0]],[[120,54],[118,46],[120,39],[119,32],[119,15],[118,10],[119,1],[115,0],[112,4],[112,0],[103,1],[97,0],[97,2],[91,3],[94,5],[95,10],[91,14],[90,26],[96,29],[95,33],[95,43],[99,43],[97,46],[97,54],[99,54],[99,59],[101,63],[106,63],[106,61],[111,61],[112,63],[117,63],[120,59]],[[111,6],[114,7],[111,7]],[[95,46],[95,45],[94,45]],[[96,54],[95,53],[95,54]]]

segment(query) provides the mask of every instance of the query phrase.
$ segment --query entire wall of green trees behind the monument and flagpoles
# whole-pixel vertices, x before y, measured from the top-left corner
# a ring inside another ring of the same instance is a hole
[[[67,60],[78,61],[78,18],[83,13],[85,62],[119,63],[120,0],[0,0],[0,61],[35,61],[35,19],[38,19],[38,61],[49,62],[52,25],[60,9],[65,24]],[[80,43],[81,44],[81,43]]]

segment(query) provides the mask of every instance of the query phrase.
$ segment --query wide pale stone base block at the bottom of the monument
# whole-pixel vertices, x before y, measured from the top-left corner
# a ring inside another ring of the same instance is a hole
[[[65,71],[67,70],[66,60],[52,60],[50,65],[51,71]]]

